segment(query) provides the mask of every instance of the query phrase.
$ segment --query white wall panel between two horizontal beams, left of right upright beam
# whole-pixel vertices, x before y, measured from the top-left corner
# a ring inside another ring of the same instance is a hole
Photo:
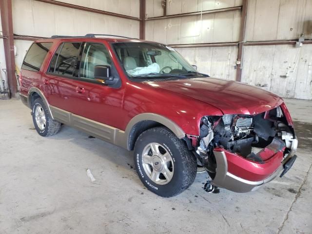
[[[146,21],[147,40],[166,44],[238,41],[240,11]]]

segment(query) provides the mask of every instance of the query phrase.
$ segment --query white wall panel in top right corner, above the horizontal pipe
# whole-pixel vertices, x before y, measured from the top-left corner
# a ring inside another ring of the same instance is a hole
[[[312,0],[248,0],[245,39],[312,39]]]

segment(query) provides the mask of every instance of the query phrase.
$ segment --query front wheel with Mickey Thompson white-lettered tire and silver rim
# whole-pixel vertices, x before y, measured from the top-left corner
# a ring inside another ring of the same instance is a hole
[[[134,153],[140,180],[159,196],[176,196],[195,180],[195,156],[186,143],[167,128],[156,127],[143,132],[137,138]]]

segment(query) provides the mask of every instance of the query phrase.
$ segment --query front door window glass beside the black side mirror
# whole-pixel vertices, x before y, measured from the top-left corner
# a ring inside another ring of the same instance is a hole
[[[94,79],[94,67],[108,65],[112,67],[111,57],[103,44],[86,43],[81,57],[80,77]]]

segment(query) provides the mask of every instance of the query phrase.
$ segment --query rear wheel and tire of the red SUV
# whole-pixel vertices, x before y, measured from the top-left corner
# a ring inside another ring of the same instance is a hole
[[[41,98],[37,98],[33,102],[32,116],[35,128],[40,136],[50,137],[59,132],[60,122],[51,117],[47,106],[43,103]]]

